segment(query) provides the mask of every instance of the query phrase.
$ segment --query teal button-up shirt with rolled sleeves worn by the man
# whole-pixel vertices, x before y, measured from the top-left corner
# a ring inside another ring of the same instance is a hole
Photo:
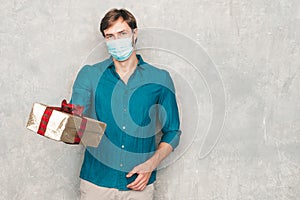
[[[170,74],[144,62],[140,55],[137,58],[127,84],[110,57],[84,66],[73,85],[71,103],[84,106],[85,116],[107,124],[99,146],[86,148],[80,172],[80,178],[98,186],[128,190],[127,184],[137,174],[130,178],[126,174],[153,155],[160,130],[160,142],[173,149],[179,143],[179,114]],[[148,184],[155,179],[153,171]]]

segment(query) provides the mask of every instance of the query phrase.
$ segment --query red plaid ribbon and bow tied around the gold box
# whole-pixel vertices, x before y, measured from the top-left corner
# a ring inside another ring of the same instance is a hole
[[[62,111],[62,112],[76,115],[76,116],[79,116],[82,118],[80,128],[77,131],[77,135],[74,138],[74,143],[76,143],[76,144],[80,143],[80,138],[82,137],[82,135],[85,131],[86,123],[87,123],[87,119],[84,118],[82,115],[82,113],[84,111],[84,106],[67,103],[67,101],[65,99],[61,102],[61,107],[47,106],[47,108],[44,111],[44,114],[42,116],[40,126],[39,126],[37,133],[40,135],[45,135],[47,125],[48,125],[48,122],[50,120],[53,110]]]

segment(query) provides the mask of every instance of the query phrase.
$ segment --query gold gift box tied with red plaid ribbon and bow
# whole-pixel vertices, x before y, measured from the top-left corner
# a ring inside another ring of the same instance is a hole
[[[83,106],[62,101],[61,107],[34,103],[27,128],[47,138],[69,144],[97,147],[106,124],[82,116]]]

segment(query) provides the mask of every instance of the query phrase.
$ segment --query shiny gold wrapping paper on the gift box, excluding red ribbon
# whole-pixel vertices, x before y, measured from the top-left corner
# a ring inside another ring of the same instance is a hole
[[[26,126],[29,130],[37,133],[46,107],[41,103],[33,104]],[[104,134],[106,124],[91,118],[86,119],[87,124],[80,143],[85,146],[97,147]],[[81,121],[82,118],[79,116],[53,110],[44,136],[56,141],[74,143]]]

